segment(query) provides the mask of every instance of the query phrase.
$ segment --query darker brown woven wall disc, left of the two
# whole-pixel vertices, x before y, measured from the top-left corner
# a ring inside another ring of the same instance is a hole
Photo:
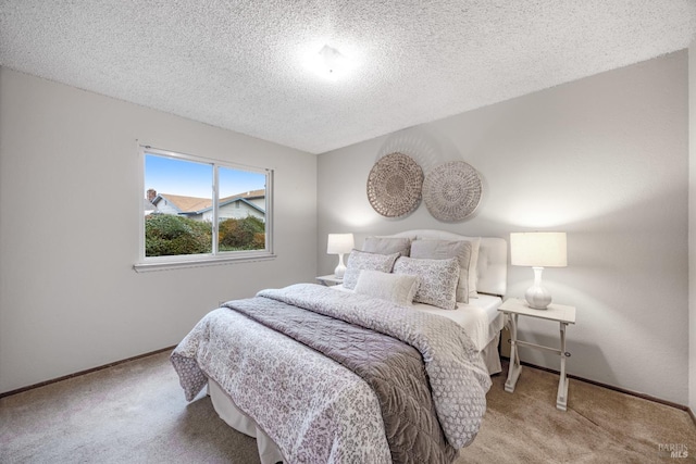
[[[368,200],[374,211],[398,217],[421,202],[423,170],[410,156],[390,153],[380,159],[368,176]]]

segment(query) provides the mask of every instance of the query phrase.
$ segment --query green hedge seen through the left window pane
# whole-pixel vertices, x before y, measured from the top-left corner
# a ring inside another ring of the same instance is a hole
[[[212,251],[210,223],[172,214],[152,214],[145,221],[145,255],[170,256]]]

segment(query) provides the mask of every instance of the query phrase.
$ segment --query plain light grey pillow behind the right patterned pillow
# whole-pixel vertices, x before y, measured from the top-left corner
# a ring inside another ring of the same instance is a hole
[[[428,260],[446,260],[457,258],[459,261],[459,281],[457,284],[457,301],[469,303],[469,273],[471,266],[472,243],[468,240],[414,240],[411,243],[411,258]],[[474,271],[475,272],[475,271]]]

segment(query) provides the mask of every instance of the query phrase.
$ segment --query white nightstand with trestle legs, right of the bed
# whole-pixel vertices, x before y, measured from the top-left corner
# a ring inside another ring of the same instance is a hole
[[[520,353],[518,347],[538,348],[558,353],[561,356],[561,377],[558,381],[558,396],[556,397],[556,407],[566,411],[568,406],[568,377],[566,376],[566,358],[570,353],[566,351],[566,327],[568,324],[575,324],[575,308],[562,304],[549,304],[546,310],[534,310],[523,300],[510,298],[498,308],[498,311],[507,314],[510,318],[510,367],[508,369],[508,380],[505,383],[505,391],[512,393],[514,385],[520,377],[522,365],[520,364]],[[540,344],[518,340],[518,316],[530,316],[539,319],[554,321],[559,323],[561,331],[561,348],[550,348]]]

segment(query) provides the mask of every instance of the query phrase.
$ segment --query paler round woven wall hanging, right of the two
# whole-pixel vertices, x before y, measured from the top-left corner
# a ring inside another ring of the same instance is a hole
[[[450,161],[427,173],[423,201],[436,220],[461,221],[476,210],[482,190],[476,170],[463,161]]]

